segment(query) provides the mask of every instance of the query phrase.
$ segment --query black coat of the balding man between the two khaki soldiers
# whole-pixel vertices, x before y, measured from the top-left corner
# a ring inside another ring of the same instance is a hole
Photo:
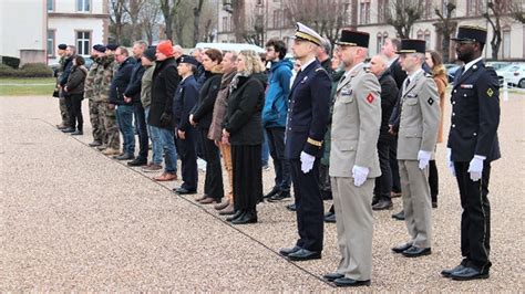
[[[392,138],[392,135],[389,133],[389,120],[398,102],[399,90],[389,70],[379,77],[379,84],[381,85],[381,128],[379,139],[388,140]]]

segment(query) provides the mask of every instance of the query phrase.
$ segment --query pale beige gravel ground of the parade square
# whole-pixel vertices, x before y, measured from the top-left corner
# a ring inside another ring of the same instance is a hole
[[[360,291],[524,290],[524,111],[518,94],[502,102],[503,158],[493,164],[490,186],[491,279],[455,282],[439,274],[461,258],[457,188],[440,145],[432,255],[390,252],[408,238],[404,222],[391,219],[401,208],[395,199],[393,210],[374,212],[372,286]],[[262,203],[259,223],[233,227],[196,204],[199,195],[174,195],[181,181],[154,182],[154,175],[90,148],[89,122],[78,138],[56,130],[54,98],[0,97],[0,291],[337,291],[319,279],[339,261],[333,224],[325,227],[321,260],[291,263],[277,254],[297,235],[295,214],[285,209],[291,200]],[[266,191],[272,180],[264,171]]]

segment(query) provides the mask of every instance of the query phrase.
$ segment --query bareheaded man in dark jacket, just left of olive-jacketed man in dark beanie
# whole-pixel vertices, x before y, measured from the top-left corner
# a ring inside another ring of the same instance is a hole
[[[147,43],[143,40],[133,43],[132,51],[133,57],[135,59],[135,65],[133,66],[130,84],[124,92],[124,99],[133,102],[133,115],[135,118],[136,133],[138,134],[138,156],[134,160],[127,162],[131,167],[147,165],[150,140],[147,136],[146,114],[141,102],[142,76],[145,72],[141,57],[146,49]]]

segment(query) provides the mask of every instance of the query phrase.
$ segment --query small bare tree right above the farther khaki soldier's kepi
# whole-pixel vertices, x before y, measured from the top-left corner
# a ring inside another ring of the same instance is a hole
[[[394,0],[387,9],[387,23],[394,27],[399,38],[409,39],[414,22],[421,19],[423,8],[418,0]]]

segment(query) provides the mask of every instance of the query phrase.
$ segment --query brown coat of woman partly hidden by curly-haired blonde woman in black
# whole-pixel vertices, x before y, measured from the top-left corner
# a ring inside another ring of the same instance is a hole
[[[220,140],[223,137],[223,123],[226,116],[226,107],[228,106],[229,84],[234,80],[237,71],[225,73],[220,81],[220,87],[215,99],[214,113],[212,115],[212,124],[209,125],[208,139]]]

